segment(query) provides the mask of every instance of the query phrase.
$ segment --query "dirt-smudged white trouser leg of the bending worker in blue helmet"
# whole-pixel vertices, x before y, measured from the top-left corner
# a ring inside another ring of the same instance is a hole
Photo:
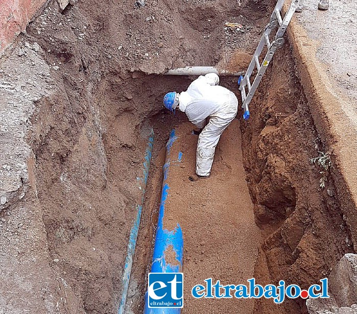
[[[223,131],[232,122],[237,113],[237,104],[238,102],[234,96],[230,106],[222,114],[211,117],[198,137],[196,174],[199,176],[209,176],[216,146]]]

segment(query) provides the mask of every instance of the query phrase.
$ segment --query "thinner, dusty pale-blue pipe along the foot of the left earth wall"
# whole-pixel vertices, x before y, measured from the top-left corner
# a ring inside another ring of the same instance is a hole
[[[150,168],[150,161],[151,161],[153,146],[154,146],[154,130],[151,128],[149,139],[148,139],[148,146],[147,146],[146,152],[145,152],[144,162],[142,163],[142,176],[136,178],[136,180],[138,181],[138,187],[141,191],[141,198],[140,198],[138,204],[136,204],[136,206],[135,206],[136,218],[135,218],[134,224],[130,230],[129,244],[128,244],[128,249],[127,249],[127,256],[125,259],[124,274],[123,274],[122,299],[121,299],[121,303],[119,305],[118,314],[124,314],[125,302],[126,302],[127,294],[128,294],[131,268],[132,268],[132,264],[133,264],[133,256],[134,256],[135,246],[136,246],[136,239],[137,239],[137,234],[139,232],[142,204],[144,204],[145,189],[146,189],[146,184],[148,183],[149,168]]]

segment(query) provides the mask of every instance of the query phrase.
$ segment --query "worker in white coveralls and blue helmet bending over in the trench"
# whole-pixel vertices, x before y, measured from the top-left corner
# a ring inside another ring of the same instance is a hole
[[[175,112],[178,108],[199,128],[196,154],[196,174],[189,180],[208,178],[217,143],[223,131],[237,114],[238,101],[233,92],[219,86],[217,74],[200,76],[181,93],[169,92],[163,98],[164,106]],[[209,121],[207,123],[207,118]]]

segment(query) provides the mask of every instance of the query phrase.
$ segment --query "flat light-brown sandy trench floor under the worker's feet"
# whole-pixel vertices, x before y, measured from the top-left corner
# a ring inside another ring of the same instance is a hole
[[[192,287],[204,283],[206,278],[212,278],[213,282],[220,280],[222,284],[240,284],[254,276],[260,232],[254,222],[253,205],[245,181],[239,122],[234,119],[223,133],[210,178],[194,183],[188,176],[195,171],[198,137],[191,134],[193,125],[189,122],[175,129],[178,139],[171,156],[176,158],[181,151],[183,157],[179,165],[174,163],[170,169],[170,196],[164,221],[168,224],[177,222],[183,230],[182,313],[251,313],[252,299],[209,300],[195,299],[191,295]],[[164,149],[157,157],[160,164],[162,153]],[[156,171],[156,163],[154,161],[152,182],[157,182],[161,175]],[[156,203],[157,200],[153,202],[149,197],[146,200],[149,208],[144,210],[150,211],[150,205]],[[135,271],[133,277],[135,280]],[[139,313],[140,308],[132,310]]]

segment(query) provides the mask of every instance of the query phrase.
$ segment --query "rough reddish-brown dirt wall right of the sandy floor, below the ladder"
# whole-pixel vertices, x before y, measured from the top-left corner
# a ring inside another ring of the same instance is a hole
[[[264,236],[256,276],[264,283],[283,279],[307,288],[327,277],[344,253],[353,252],[353,244],[336,189],[341,175],[329,172],[321,188],[322,169],[310,161],[330,147],[315,127],[309,90],[299,80],[291,51],[285,44],[275,54],[254,96],[252,116],[242,124],[243,152],[256,222]],[[334,163],[333,155],[331,159]],[[283,309],[258,301],[255,309],[306,312],[302,299],[285,302]]]

